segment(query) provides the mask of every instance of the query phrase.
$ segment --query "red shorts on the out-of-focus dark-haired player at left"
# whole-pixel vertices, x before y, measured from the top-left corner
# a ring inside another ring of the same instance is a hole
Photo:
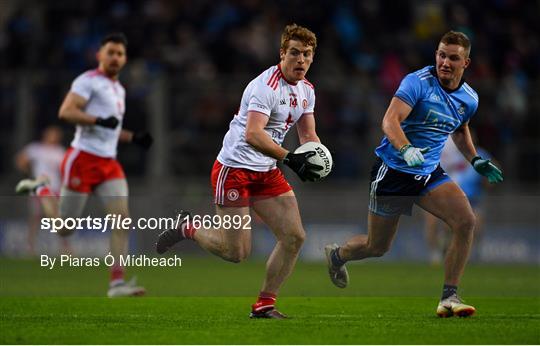
[[[62,165],[62,186],[70,190],[90,193],[101,183],[112,179],[125,179],[122,166],[116,159],[101,157],[75,148],[69,148]]]

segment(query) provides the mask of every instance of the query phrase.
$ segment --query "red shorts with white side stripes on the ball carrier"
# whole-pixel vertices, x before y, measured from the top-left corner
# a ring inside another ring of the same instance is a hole
[[[227,167],[216,160],[212,167],[214,203],[225,207],[247,207],[258,199],[272,198],[289,192],[289,185],[279,168],[256,172]]]

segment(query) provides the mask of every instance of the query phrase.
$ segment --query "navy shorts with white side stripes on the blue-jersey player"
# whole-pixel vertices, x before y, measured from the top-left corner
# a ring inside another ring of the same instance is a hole
[[[440,165],[431,174],[419,175],[390,168],[377,158],[371,169],[369,211],[380,216],[411,215],[419,197],[449,181]]]

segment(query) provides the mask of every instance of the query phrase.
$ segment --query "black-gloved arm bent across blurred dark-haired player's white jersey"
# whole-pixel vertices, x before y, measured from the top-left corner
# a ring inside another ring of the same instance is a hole
[[[78,125],[98,125],[114,129],[118,126],[118,119],[111,115],[106,118],[95,117],[83,111],[88,101],[74,92],[69,92],[60,106],[58,117],[62,120]]]

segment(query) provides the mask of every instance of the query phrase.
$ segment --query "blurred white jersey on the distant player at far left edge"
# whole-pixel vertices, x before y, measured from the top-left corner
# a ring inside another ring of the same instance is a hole
[[[61,145],[48,145],[41,142],[32,142],[23,149],[23,153],[30,161],[32,176],[34,178],[47,176],[53,191],[60,191],[62,183],[60,164],[65,152],[66,150]]]

